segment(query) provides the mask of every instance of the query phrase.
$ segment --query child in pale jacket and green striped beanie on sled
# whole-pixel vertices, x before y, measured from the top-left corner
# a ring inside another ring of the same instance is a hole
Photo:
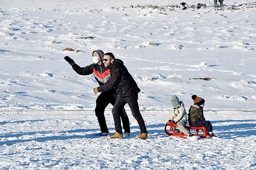
[[[169,126],[171,123],[176,123],[181,132],[185,135],[192,136],[190,131],[185,128],[185,125],[187,124],[187,112],[183,102],[180,101],[176,95],[173,95],[171,97],[171,106],[173,109],[166,125]],[[175,133],[179,133],[178,129],[173,128],[173,130]]]

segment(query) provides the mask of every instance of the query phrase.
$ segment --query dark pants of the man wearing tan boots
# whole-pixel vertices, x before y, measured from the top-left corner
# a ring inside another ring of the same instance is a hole
[[[133,94],[132,96],[121,98],[120,96],[117,97],[116,103],[112,108],[112,114],[115,121],[115,128],[118,133],[122,133],[121,127],[121,120],[120,120],[120,109],[125,106],[127,103],[131,108],[132,116],[137,120],[140,128],[141,133],[147,133],[147,129],[144,123],[144,119],[139,112],[139,105],[138,105],[138,94]]]

